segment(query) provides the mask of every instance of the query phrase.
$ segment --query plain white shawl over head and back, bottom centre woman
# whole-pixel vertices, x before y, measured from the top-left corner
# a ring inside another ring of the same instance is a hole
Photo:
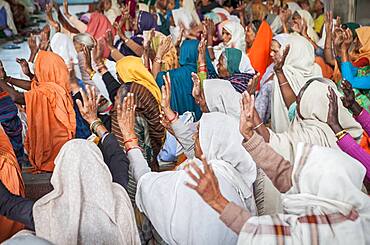
[[[238,121],[219,112],[204,113],[199,130],[201,147],[221,193],[255,213],[251,185],[256,166],[241,145]],[[203,168],[199,160],[196,164]],[[183,165],[177,171],[144,174],[137,185],[139,209],[168,244],[235,244],[237,235],[223,224],[219,214],[184,185],[192,180]]]

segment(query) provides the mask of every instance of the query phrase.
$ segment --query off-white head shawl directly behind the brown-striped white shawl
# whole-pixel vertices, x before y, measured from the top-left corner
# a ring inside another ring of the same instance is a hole
[[[337,138],[327,124],[329,110],[329,99],[327,97],[328,87],[336,91],[335,84],[325,84],[320,81],[313,81],[303,94],[297,107],[299,106],[300,118],[298,113],[284,133],[270,133],[270,145],[274,150],[285,159],[293,162],[297,155],[297,143],[305,142],[308,144],[321,145],[326,147],[338,148]],[[339,93],[337,92],[338,96]],[[353,138],[359,139],[362,136],[361,126],[353,119],[349,111],[338,101],[338,119],[340,125],[346,129]]]

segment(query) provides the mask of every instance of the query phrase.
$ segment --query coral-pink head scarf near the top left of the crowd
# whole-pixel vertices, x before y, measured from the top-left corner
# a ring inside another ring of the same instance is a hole
[[[93,36],[96,40],[103,39],[105,42],[105,37],[107,37],[108,31],[112,31],[112,35],[115,35],[115,31],[112,27],[112,24],[110,23],[109,19],[101,13],[94,12],[91,14],[90,21],[87,24],[87,30],[86,32]],[[104,58],[108,58],[110,54],[109,48],[104,45]]]

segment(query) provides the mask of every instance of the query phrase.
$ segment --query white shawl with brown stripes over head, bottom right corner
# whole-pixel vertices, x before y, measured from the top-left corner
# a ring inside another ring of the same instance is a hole
[[[284,214],[250,218],[238,244],[370,244],[370,199],[361,192],[365,168],[335,149],[298,144]],[[278,236],[277,225],[283,227]],[[259,232],[256,232],[258,229]],[[289,232],[289,235],[286,235]]]

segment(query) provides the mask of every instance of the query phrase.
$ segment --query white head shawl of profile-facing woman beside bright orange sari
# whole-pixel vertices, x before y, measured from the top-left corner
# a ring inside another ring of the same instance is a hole
[[[307,39],[300,35],[291,34],[288,44],[290,45],[290,50],[286,57],[283,71],[290,87],[298,95],[308,80],[322,77],[322,72],[320,66],[315,63],[314,48]],[[282,46],[282,48],[285,47]],[[274,132],[281,133],[286,131],[289,126],[288,109],[284,103],[277,78],[275,77],[274,79],[271,126]]]

